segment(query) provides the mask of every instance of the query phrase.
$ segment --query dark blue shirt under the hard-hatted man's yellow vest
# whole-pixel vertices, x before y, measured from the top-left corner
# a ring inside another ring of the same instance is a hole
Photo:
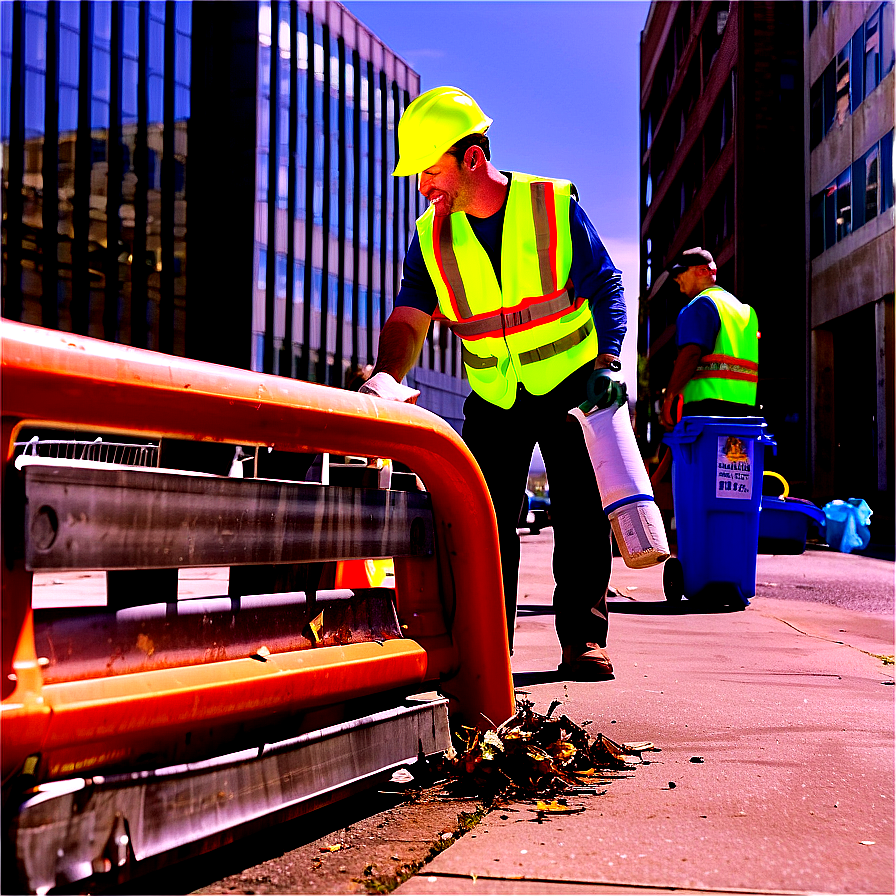
[[[503,173],[510,176],[508,172]],[[467,215],[476,239],[482,244],[492,263],[499,284],[506,207],[505,198],[500,210],[488,218]],[[569,203],[569,227],[572,235],[572,266],[569,277],[573,288],[577,296],[584,296],[588,300],[597,330],[598,351],[618,355],[622,349],[627,323],[622,274],[610,260],[594,225],[575,200]],[[404,259],[401,288],[395,305],[417,308],[425,314],[432,314],[438,305],[436,288],[423,260],[420,237],[416,230]]]

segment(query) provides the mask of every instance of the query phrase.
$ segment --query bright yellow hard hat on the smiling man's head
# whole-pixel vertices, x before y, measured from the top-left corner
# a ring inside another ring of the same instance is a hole
[[[393,177],[419,174],[467,134],[484,134],[492,120],[457,87],[433,87],[404,110],[398,122],[398,164]]]

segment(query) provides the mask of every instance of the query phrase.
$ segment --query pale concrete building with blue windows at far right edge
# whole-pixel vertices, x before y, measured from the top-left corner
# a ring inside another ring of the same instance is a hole
[[[803,6],[815,489],[892,535],[894,4]]]

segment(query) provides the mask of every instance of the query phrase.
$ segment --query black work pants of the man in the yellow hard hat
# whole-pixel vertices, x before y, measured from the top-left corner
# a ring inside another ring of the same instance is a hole
[[[593,364],[547,395],[520,388],[508,410],[472,392],[464,404],[463,438],[488,485],[501,542],[507,634],[513,647],[519,580],[517,520],[535,444],[541,448],[554,529],[554,617],[561,645],[607,643],[610,524],[600,500],[582,427],[567,414],[585,400]]]

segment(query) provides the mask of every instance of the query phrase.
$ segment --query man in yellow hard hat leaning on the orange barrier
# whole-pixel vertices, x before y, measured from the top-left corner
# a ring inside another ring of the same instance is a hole
[[[462,435],[495,507],[507,633],[513,648],[517,520],[536,443],[551,487],[554,615],[569,679],[610,675],[606,653],[611,544],[594,470],[570,408],[619,388],[626,311],[620,272],[565,180],[500,171],[492,120],[455,87],[417,97],[398,126],[395,176],[419,175],[417,220],[401,289],[362,387],[416,401],[401,385],[438,308],[461,339],[472,393]],[[624,388],[624,384],[620,384]]]

